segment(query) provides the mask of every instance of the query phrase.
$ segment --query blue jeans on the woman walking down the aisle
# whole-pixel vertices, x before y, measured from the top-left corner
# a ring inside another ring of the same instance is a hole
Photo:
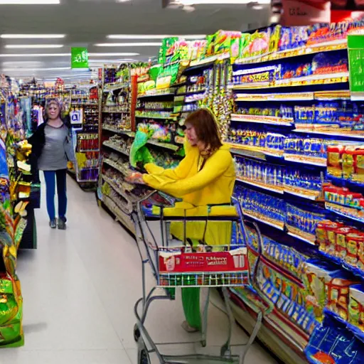
[[[67,192],[66,192],[66,169],[58,171],[43,171],[45,178],[45,190],[47,196],[47,211],[50,220],[55,219],[55,178],[57,177],[57,194],[58,194],[58,217],[65,219],[67,210]]]

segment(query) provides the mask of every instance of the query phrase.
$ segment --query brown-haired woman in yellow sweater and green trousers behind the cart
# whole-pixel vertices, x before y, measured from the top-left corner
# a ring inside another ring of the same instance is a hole
[[[235,183],[235,168],[229,147],[223,145],[218,124],[208,109],[198,109],[185,122],[186,157],[174,169],[164,169],[154,164],[144,167],[148,174],[137,174],[134,182],[145,183],[159,191],[168,193],[183,202],[176,208],[193,209],[200,206],[229,204]],[[225,225],[224,225],[225,224]],[[228,227],[228,229],[227,229]],[[171,227],[173,235],[183,239],[181,224]],[[230,243],[230,225],[226,223],[189,223],[186,237],[204,240],[208,245]],[[200,290],[182,289],[186,331],[201,328]]]

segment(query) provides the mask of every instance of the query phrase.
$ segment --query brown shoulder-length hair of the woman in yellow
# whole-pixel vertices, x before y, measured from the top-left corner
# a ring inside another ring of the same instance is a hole
[[[223,143],[220,139],[218,122],[208,109],[198,109],[186,117],[185,125],[190,124],[196,131],[198,140],[203,141],[211,152],[217,151]]]

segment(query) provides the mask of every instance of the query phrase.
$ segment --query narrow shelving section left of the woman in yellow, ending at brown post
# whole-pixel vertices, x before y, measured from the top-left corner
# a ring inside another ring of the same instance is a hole
[[[102,70],[101,95],[101,173],[97,199],[115,220],[134,233],[134,223],[130,217],[134,199],[124,188],[127,186],[124,178],[129,171],[129,149],[135,136],[137,77],[132,75],[131,66],[105,66]]]

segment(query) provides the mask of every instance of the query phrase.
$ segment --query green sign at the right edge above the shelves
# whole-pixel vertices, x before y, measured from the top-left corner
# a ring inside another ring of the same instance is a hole
[[[350,92],[364,93],[364,35],[348,36],[348,55]]]

